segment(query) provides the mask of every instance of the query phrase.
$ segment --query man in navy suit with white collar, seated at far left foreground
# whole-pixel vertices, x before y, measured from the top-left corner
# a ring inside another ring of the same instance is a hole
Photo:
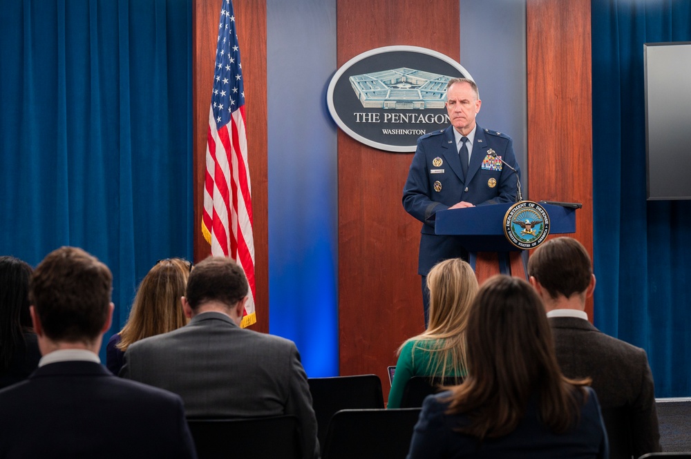
[[[43,357],[27,380],[0,391],[0,457],[196,457],[178,395],[100,364],[111,286],[107,266],[80,248],[59,248],[37,266],[29,301]]]

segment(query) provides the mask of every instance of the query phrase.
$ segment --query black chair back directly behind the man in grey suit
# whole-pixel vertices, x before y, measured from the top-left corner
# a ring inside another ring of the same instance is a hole
[[[188,419],[198,459],[301,458],[296,416]]]

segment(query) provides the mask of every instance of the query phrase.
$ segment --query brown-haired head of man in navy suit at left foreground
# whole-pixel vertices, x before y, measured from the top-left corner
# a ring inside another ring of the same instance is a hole
[[[54,342],[91,343],[110,310],[113,276],[81,248],[61,247],[36,267],[29,300],[45,335]]]

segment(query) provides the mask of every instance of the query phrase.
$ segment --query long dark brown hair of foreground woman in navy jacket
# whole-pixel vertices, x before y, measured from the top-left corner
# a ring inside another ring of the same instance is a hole
[[[466,340],[468,378],[454,390],[451,407],[477,414],[468,433],[484,438],[513,431],[533,395],[555,431],[574,421],[571,381],[562,376],[542,301],[528,282],[505,275],[487,280],[471,305]]]

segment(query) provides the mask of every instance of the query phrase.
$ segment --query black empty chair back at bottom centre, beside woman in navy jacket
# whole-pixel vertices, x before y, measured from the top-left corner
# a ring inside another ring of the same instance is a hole
[[[322,459],[405,459],[419,408],[343,409],[329,424]]]

